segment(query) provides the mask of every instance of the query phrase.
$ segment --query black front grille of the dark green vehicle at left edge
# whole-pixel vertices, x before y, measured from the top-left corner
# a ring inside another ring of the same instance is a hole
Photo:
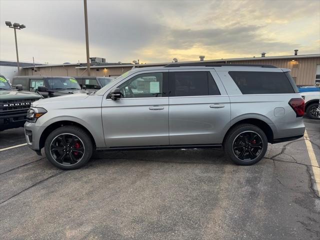
[[[16,114],[26,114],[33,101],[38,98],[31,99],[15,99],[15,100],[0,100],[0,116],[10,117]]]

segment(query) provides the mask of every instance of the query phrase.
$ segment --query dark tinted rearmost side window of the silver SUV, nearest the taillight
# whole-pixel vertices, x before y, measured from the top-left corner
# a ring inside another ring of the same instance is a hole
[[[294,93],[284,72],[229,71],[242,94]]]

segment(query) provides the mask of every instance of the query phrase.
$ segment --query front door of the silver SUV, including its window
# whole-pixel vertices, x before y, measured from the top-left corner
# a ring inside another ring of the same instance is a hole
[[[121,98],[102,99],[106,146],[168,145],[168,70],[138,72],[114,87]]]

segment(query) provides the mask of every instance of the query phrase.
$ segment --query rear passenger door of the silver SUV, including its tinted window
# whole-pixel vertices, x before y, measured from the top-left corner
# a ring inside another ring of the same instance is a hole
[[[170,144],[222,143],[230,102],[216,72],[169,70],[169,89]]]

